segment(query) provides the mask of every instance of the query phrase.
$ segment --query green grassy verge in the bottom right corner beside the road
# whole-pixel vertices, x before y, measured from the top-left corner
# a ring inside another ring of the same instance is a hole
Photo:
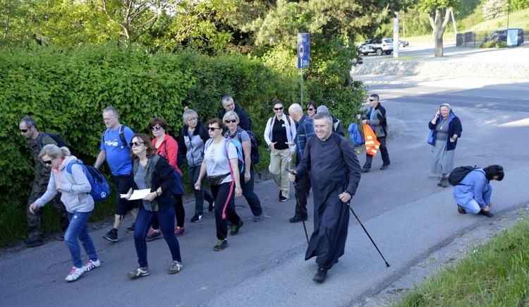
[[[470,248],[466,258],[403,296],[394,306],[529,306],[529,220]]]

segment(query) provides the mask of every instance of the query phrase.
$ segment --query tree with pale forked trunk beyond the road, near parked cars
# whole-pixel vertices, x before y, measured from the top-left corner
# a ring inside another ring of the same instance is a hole
[[[434,32],[435,57],[443,56],[443,35],[454,6],[458,0],[419,0],[420,9],[428,13],[428,19]]]

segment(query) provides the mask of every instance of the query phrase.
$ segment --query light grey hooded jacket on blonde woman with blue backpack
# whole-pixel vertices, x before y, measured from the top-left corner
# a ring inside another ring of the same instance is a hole
[[[77,157],[70,155],[59,165],[59,170],[51,169],[48,188],[41,198],[35,200],[39,207],[44,207],[46,203],[54,198],[57,192],[61,192],[61,201],[66,210],[71,213],[90,212],[94,210],[94,199],[90,196],[92,186],[88,181],[83,167],[75,163],[72,165],[72,174],[66,172],[66,166],[70,162],[77,160]],[[63,184],[61,191],[57,191],[56,183]]]

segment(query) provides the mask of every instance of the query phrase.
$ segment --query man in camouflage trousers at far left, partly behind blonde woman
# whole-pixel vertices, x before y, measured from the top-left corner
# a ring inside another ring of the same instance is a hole
[[[29,205],[44,195],[48,187],[51,169],[47,167],[42,159],[39,158],[39,152],[44,145],[57,145],[57,143],[50,136],[44,136],[39,144],[40,133],[37,130],[35,119],[32,119],[31,117],[24,117],[21,119],[20,124],[18,124],[18,128],[20,128],[20,133],[22,136],[28,140],[28,146],[30,148],[33,161],[35,162],[35,179],[33,179],[30,199],[28,201],[28,207],[26,207],[26,214],[28,215],[28,239],[22,241],[22,244],[26,247],[41,246],[44,244],[44,241],[42,240],[41,227],[42,209],[35,211],[35,215],[33,215],[29,210]],[[53,203],[54,208],[61,219],[61,229],[66,231],[66,228],[68,228],[68,224],[70,224],[70,222],[68,220],[68,214],[66,213],[66,207],[64,207],[64,205],[61,203],[61,193],[57,193],[51,203]]]

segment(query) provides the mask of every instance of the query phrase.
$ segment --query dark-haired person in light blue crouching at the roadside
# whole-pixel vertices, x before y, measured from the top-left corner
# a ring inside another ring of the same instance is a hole
[[[502,179],[504,179],[504,168],[496,164],[470,171],[457,186],[454,186],[454,199],[458,212],[462,215],[469,212],[473,215],[479,213],[493,217],[494,215],[490,212],[490,206],[492,206],[490,181],[501,181]]]

